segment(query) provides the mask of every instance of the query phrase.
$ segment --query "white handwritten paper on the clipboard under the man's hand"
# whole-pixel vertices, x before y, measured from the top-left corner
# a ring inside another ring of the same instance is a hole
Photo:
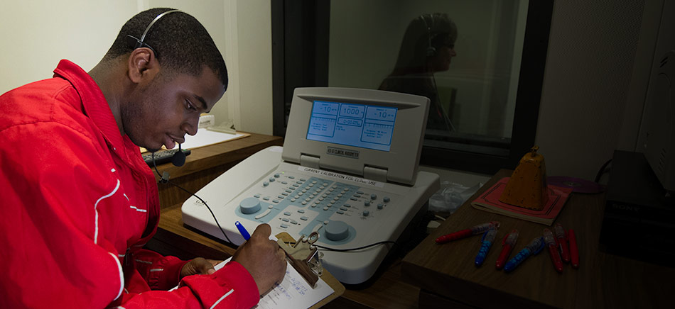
[[[232,257],[217,264],[215,269],[221,269],[230,259]],[[325,283],[321,278],[316,281],[316,287],[311,288],[298,271],[286,262],[286,276],[284,276],[284,280],[272,288],[271,291],[262,295],[258,305],[254,308],[310,308],[332,293],[333,288],[328,286],[328,283]]]

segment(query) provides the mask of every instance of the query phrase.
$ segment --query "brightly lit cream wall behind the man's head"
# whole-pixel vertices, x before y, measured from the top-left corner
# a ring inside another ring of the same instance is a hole
[[[85,71],[107,52],[121,26],[140,11],[173,7],[195,16],[225,58],[229,89],[213,108],[216,122],[272,134],[271,20],[267,0],[26,0],[0,10],[0,94],[52,77],[59,60]]]

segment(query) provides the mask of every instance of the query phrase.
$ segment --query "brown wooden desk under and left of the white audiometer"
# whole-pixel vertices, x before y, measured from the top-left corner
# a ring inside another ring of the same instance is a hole
[[[196,192],[254,152],[281,143],[280,137],[252,134],[241,140],[193,150],[183,167],[169,163],[158,169],[169,172],[172,181]],[[189,197],[187,193],[168,184],[159,186],[161,219],[155,237],[146,245],[148,249],[181,259],[227,259],[234,254],[233,247],[183,225],[180,206]],[[419,288],[401,280],[401,258],[383,264],[375,277],[367,286],[347,288],[324,308],[417,308]]]

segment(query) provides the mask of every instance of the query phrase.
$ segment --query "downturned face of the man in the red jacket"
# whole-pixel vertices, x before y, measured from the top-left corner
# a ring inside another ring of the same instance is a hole
[[[172,149],[185,142],[185,133],[197,133],[200,113],[210,111],[224,93],[220,79],[206,67],[198,77],[163,72],[129,96],[121,111],[124,133],[148,150]]]

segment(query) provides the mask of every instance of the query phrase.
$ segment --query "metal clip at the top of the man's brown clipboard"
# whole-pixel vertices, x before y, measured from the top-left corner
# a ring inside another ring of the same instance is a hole
[[[323,254],[318,252],[317,247],[314,246],[318,239],[318,232],[312,232],[308,237],[302,235],[293,245],[288,245],[281,239],[276,240],[279,247],[286,252],[288,262],[312,288],[316,286],[316,281],[323,274],[323,266],[320,260]]]

